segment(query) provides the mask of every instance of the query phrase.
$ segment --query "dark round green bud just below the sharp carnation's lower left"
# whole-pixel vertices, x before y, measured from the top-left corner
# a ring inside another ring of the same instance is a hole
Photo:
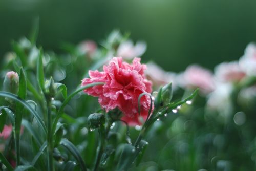
[[[89,115],[87,119],[90,129],[101,127],[105,123],[105,115],[101,113],[94,113]]]

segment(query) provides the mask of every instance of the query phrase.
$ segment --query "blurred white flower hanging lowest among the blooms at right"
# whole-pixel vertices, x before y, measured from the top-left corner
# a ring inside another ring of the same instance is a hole
[[[218,84],[215,91],[210,93],[207,100],[209,109],[228,114],[232,110],[231,93],[233,86],[230,83]]]

